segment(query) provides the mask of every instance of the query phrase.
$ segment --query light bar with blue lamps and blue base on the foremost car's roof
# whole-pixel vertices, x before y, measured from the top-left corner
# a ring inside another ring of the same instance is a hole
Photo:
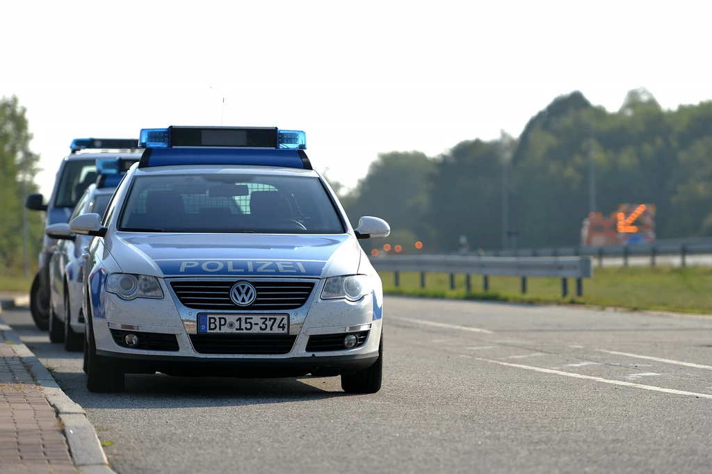
[[[141,130],[140,168],[186,164],[312,169],[306,134],[276,127],[168,127]]]

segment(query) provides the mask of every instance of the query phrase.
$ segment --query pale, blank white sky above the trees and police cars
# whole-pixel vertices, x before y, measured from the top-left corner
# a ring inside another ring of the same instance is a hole
[[[78,137],[169,125],[304,130],[353,187],[379,152],[517,136],[558,95],[618,110],[712,99],[703,1],[16,1],[0,96],[27,108],[51,192]]]

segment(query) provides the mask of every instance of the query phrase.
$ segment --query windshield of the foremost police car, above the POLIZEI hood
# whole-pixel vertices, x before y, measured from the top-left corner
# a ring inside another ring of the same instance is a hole
[[[260,174],[137,177],[120,231],[343,233],[318,178]]]

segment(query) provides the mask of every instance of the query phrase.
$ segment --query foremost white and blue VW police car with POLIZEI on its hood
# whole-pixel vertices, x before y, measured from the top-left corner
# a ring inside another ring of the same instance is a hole
[[[142,130],[140,162],[105,216],[75,217],[95,236],[83,310],[90,391],[125,374],[341,376],[374,393],[382,379],[382,285],[312,169],[304,132],[277,128]]]

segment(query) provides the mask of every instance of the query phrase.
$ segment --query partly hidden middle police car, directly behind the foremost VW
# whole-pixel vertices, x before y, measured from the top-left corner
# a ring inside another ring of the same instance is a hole
[[[138,140],[136,141],[138,144]],[[111,157],[96,160],[98,177],[80,197],[69,220],[80,214],[104,215],[117,184],[127,169],[139,157]],[[82,311],[83,270],[85,260],[81,257],[84,246],[93,237],[77,236],[69,224],[55,223],[45,228],[49,238],[58,241],[49,261],[49,338],[63,342],[68,351],[80,351],[84,347],[84,315]]]

